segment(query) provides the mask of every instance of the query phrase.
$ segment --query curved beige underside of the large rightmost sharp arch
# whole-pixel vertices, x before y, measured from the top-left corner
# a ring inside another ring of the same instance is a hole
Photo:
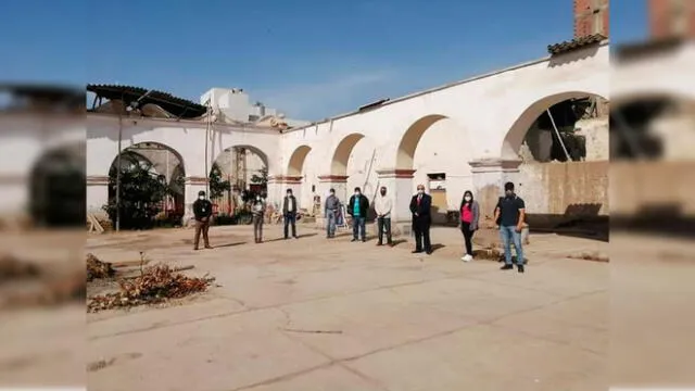
[[[553,105],[564,102],[570,99],[579,99],[586,97],[598,97],[606,99],[601,94],[586,92],[586,91],[567,91],[546,96],[536,100],[531,105],[526,108],[521,114],[516,117],[514,124],[507,130],[502,148],[500,150],[500,156],[504,160],[518,160],[518,151],[523,143],[523,139],[531,128],[531,125],[541,116],[547,109]],[[606,99],[607,100],[607,99]]]

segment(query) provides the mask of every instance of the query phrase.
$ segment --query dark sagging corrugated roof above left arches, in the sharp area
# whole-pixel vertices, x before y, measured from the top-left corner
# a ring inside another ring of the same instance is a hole
[[[140,99],[140,104],[154,103],[167,112],[181,118],[199,117],[207,112],[207,108],[193,101],[174,97],[168,92],[149,90],[134,86],[118,85],[87,85],[87,91],[94,92],[98,97],[109,100],[119,99],[125,104]],[[147,96],[144,96],[148,91]]]

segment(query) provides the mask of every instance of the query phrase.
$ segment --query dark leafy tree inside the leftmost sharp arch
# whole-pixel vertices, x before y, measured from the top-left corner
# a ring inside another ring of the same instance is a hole
[[[152,173],[152,164],[134,162],[121,168],[121,228],[147,229],[154,226],[154,216],[162,211],[165,197],[173,193],[164,175]],[[116,193],[116,167],[109,172],[110,193]],[[109,218],[116,223],[116,198],[102,206]]]

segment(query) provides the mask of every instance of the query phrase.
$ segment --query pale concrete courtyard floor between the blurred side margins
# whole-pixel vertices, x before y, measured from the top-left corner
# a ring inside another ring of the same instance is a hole
[[[607,243],[534,236],[522,275],[460,262],[455,228],[433,229],[430,256],[300,229],[285,241],[266,227],[255,244],[251,227],[213,227],[216,248],[199,252],[191,230],[90,238],[103,261],[144,251],[219,287],[89,314],[89,389],[606,389],[608,264],[566,256]]]

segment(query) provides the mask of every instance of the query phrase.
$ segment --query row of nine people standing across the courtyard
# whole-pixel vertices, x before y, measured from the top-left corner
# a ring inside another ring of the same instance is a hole
[[[495,226],[500,230],[500,237],[504,247],[503,270],[514,268],[511,256],[511,244],[516,250],[516,265],[519,273],[525,272],[523,249],[521,244],[521,230],[526,217],[526,205],[523,200],[514,191],[514,184],[506,182],[504,186],[505,195],[497,200],[494,210]],[[336,228],[341,214],[341,202],[336,197],[336,190],[330,189],[330,193],[324,205],[324,217],[326,218],[326,238],[336,237]],[[413,253],[432,253],[432,242],[430,238],[432,197],[425,192],[425,186],[417,186],[417,193],[410,199],[409,210],[413,222],[413,232],[415,236],[415,250]],[[393,201],[387,193],[387,188],[381,187],[379,193],[375,198],[374,210],[377,215],[377,229],[379,241],[377,245],[393,245],[391,236],[391,212]],[[266,204],[261,195],[256,195],[251,204],[251,213],[253,215],[253,231],[256,243],[263,242],[263,222]],[[346,213],[352,217],[352,241],[367,240],[366,220],[369,211],[369,199],[362,193],[356,187],[354,194],[350,197],[346,205]],[[292,190],[288,189],[282,200],[282,216],[285,219],[285,239],[289,239],[290,228],[292,238],[299,239],[296,236],[296,216],[299,207],[296,198],[292,194]],[[199,192],[199,199],[193,203],[193,213],[195,215],[195,237],[193,241],[194,250],[199,249],[200,236],[202,234],[206,249],[211,249],[207,232],[210,229],[210,219],[212,216],[212,203],[205,199],[205,192]],[[466,253],[462,257],[464,262],[473,260],[472,237],[480,228],[480,206],[473,199],[470,190],[464,192],[464,197],[459,207],[460,224],[459,228],[464,236],[464,244]]]

